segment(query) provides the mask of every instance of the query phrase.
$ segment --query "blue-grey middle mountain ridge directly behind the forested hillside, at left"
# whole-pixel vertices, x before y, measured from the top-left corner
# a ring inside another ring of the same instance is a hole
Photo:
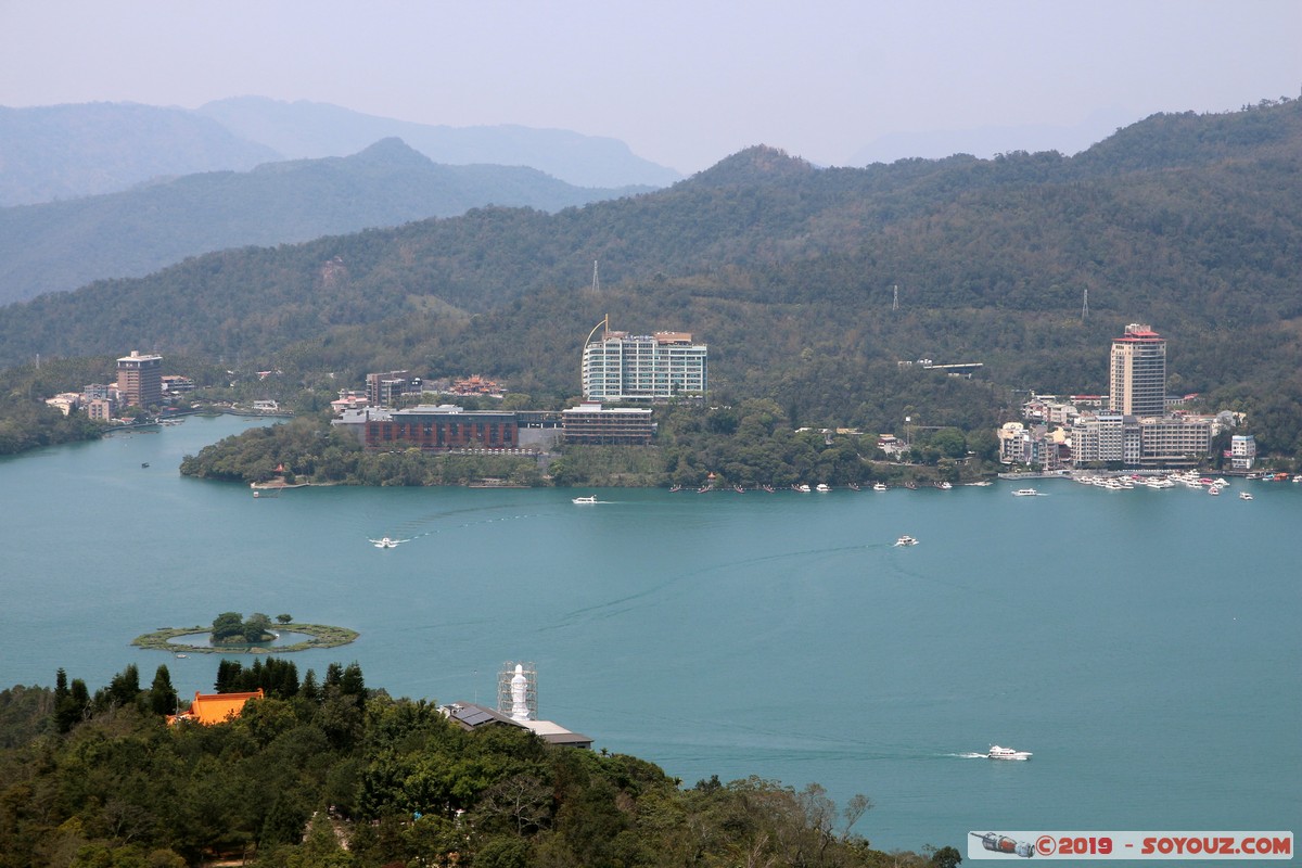
[[[348,157],[0,208],[0,303],[142,277],[225,247],[294,243],[490,204],[559,211],[635,191],[575,187],[525,167],[436,165],[400,139],[384,139]]]

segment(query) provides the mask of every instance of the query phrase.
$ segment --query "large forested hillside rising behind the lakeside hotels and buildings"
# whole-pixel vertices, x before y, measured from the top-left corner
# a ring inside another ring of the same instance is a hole
[[[36,299],[0,311],[0,351],[141,346],[574,394],[609,314],[694,332],[721,400],[880,426],[910,403],[898,360],[983,362],[992,388],[960,415],[986,418],[1010,389],[1104,392],[1108,340],[1146,321],[1169,341],[1172,390],[1302,418],[1298,202],[1298,102],[1159,115],[1072,159],[816,169],[751,148],[631,199],[223,251]]]

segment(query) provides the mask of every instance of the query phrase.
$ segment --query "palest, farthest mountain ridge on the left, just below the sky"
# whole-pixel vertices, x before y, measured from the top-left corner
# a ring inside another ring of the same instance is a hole
[[[0,207],[120,193],[156,178],[348,156],[402,138],[435,163],[530,167],[574,186],[665,186],[677,172],[617,139],[525,126],[410,124],[322,103],[238,98],[198,111],[133,103],[0,107]]]

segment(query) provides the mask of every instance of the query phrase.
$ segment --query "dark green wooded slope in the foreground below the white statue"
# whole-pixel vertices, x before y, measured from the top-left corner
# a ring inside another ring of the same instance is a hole
[[[225,724],[168,726],[167,666],[94,695],[0,691],[0,868],[954,868],[956,847],[874,850],[872,802],[811,783],[694,786],[634,756],[523,729],[465,731],[434,701],[366,687],[361,666],[299,681],[288,660],[225,661],[219,692],[266,699]],[[449,698],[457,699],[457,698]],[[963,845],[954,842],[958,847]]]

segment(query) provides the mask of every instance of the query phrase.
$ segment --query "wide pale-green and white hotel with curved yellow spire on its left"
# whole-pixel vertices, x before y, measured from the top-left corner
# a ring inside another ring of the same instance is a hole
[[[604,332],[583,347],[583,398],[655,401],[704,394],[706,345],[687,332]]]

